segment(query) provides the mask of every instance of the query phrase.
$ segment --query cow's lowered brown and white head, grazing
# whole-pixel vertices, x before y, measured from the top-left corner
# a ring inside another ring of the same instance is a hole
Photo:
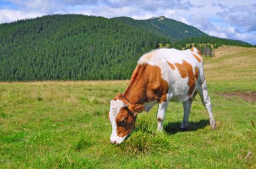
[[[144,105],[132,105],[126,101],[122,94],[110,101],[108,119],[112,125],[110,142],[121,144],[134,128],[137,114],[145,109]]]

